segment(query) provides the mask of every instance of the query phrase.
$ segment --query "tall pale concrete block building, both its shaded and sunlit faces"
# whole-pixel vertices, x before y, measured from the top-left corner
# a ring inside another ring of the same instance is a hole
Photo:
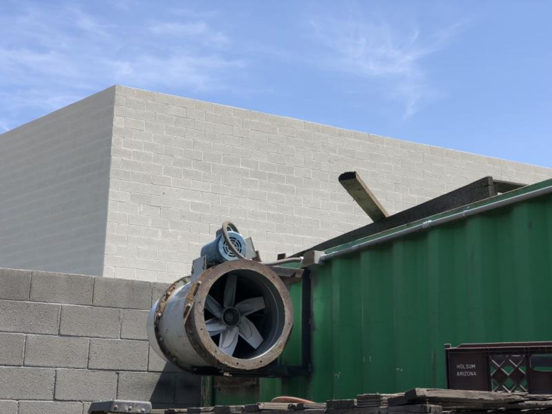
[[[486,175],[552,177],[549,168],[114,86],[0,135],[0,267],[173,282],[227,219],[274,259],[370,222],[337,182],[353,169],[390,213]]]

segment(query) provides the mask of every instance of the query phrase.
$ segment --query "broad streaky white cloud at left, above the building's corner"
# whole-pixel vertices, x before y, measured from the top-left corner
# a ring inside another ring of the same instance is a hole
[[[220,47],[230,39],[205,16],[151,23],[141,14],[130,24],[77,6],[13,10],[0,15],[0,130],[115,83],[184,94],[225,88],[246,65]]]

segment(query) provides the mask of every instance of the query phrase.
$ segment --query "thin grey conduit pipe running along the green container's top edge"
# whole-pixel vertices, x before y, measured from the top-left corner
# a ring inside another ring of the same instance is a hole
[[[422,231],[425,229],[429,229],[430,227],[434,227],[451,221],[464,219],[465,217],[483,213],[484,211],[489,211],[492,209],[517,203],[518,201],[529,200],[535,197],[539,197],[540,195],[545,195],[550,193],[552,193],[552,187],[539,188],[537,190],[533,190],[528,193],[514,195],[514,197],[511,197],[511,198],[495,201],[494,203],[482,205],[469,210],[459,211],[458,213],[451,214],[450,216],[440,217],[440,219],[427,220],[415,226],[408,227],[407,229],[399,230],[395,233],[374,238],[373,240],[368,240],[363,243],[359,243],[358,245],[344,248],[343,250],[322,254],[322,256],[320,257],[320,261],[325,262],[333,258],[343,256],[344,254],[358,252],[359,250],[363,250],[364,248],[374,246],[374,245],[379,245],[380,243],[384,243],[386,241],[395,240],[396,238],[409,235],[411,233],[416,233],[418,231]]]

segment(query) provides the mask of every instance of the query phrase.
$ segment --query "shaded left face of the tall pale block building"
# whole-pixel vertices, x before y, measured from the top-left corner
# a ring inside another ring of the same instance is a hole
[[[0,135],[0,267],[102,275],[114,88]]]

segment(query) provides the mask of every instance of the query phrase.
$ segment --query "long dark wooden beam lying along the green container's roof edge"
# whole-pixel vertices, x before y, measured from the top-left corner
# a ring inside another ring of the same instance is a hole
[[[324,251],[332,247],[343,245],[344,243],[358,240],[359,238],[394,229],[394,227],[399,227],[412,221],[424,219],[434,214],[444,213],[444,211],[475,203],[476,201],[481,201],[489,197],[494,197],[495,195],[497,195],[497,191],[492,177],[484,177],[471,184],[464,185],[464,187],[451,191],[450,193],[443,194],[425,203],[415,205],[410,209],[385,217],[385,219],[375,221],[359,229],[326,240],[319,245],[295,253],[293,256],[303,256],[303,254],[309,250]]]

